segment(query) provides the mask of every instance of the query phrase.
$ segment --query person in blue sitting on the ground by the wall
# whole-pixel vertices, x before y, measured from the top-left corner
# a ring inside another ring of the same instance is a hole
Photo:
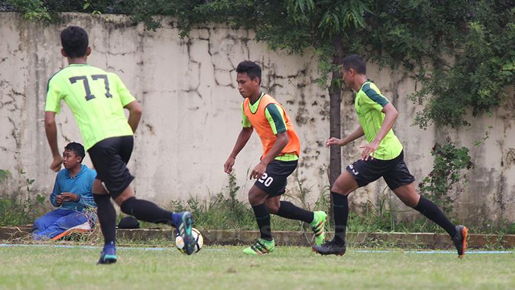
[[[89,226],[89,215],[96,206],[91,187],[97,173],[81,164],[85,155],[84,147],[79,143],[66,145],[62,152],[65,169],[57,173],[54,192],[50,196],[50,202],[58,208],[34,221],[34,239],[51,239],[83,223]]]

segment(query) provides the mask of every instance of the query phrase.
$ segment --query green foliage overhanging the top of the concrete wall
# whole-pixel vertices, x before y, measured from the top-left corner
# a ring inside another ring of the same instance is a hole
[[[8,0],[25,19],[49,21],[56,12],[129,14],[148,29],[155,15],[177,19],[181,36],[192,27],[229,23],[255,30],[271,49],[316,51],[319,83],[339,68],[335,53],[360,53],[382,67],[404,67],[422,86],[411,99],[424,108],[415,123],[457,128],[496,108],[515,81],[515,0]],[[333,43],[341,38],[343,49]]]

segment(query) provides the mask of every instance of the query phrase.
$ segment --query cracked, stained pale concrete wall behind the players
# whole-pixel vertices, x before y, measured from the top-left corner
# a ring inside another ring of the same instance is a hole
[[[198,27],[189,38],[179,38],[171,19],[164,27],[148,32],[125,16],[65,14],[63,23],[27,23],[18,14],[0,13],[0,169],[12,177],[3,184],[0,195],[34,193],[48,195],[55,175],[48,169],[51,156],[43,127],[43,108],[48,78],[67,65],[60,56],[59,32],[67,25],[87,29],[93,53],[89,63],[119,74],[144,107],[144,116],[135,135],[135,149],[129,168],[136,176],[137,196],[167,205],[172,199],[190,196],[205,198],[225,190],[227,175],[222,165],[240,131],[242,98],[236,88],[236,65],[255,60],[263,67],[263,90],[275,96],[295,120],[302,142],[297,174],[288,180],[288,193],[296,195],[299,186],[311,189],[312,204],[328,184],[329,97],[314,80],[317,57],[288,56],[268,51],[253,40],[253,32],[225,25]],[[403,71],[380,71],[369,64],[369,77],[400,111],[394,127],[404,145],[411,173],[420,182],[432,168],[431,147],[450,136],[459,145],[471,148],[476,168],[470,182],[457,197],[459,220],[515,221],[515,124],[514,93],[504,106],[469,120],[472,126],[459,130],[420,130],[412,125],[415,106],[407,95],[416,84]],[[63,104],[57,117],[59,146],[81,141],[76,122]],[[341,121],[343,135],[358,125],[352,93],[345,90]],[[474,146],[488,138],[481,146]],[[343,148],[342,164],[359,156],[363,139]],[[236,160],[236,177],[241,186],[238,197],[244,200],[253,184],[246,178],[262,153],[253,135]],[[84,161],[91,165],[87,157]],[[26,179],[35,179],[31,193]],[[385,190],[380,180],[358,189],[351,197],[355,210],[367,200],[407,209]],[[456,193],[459,189],[456,189]],[[408,215],[413,215],[413,210]],[[478,215],[479,213],[479,215]]]

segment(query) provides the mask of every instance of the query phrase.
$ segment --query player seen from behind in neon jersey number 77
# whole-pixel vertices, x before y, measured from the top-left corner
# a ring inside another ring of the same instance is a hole
[[[87,64],[91,53],[87,32],[78,26],[62,30],[61,54],[69,66],[48,81],[45,105],[45,131],[54,160],[50,168],[60,169],[55,115],[64,100],[75,117],[84,147],[98,175],[93,182],[93,198],[98,207],[98,219],[104,235],[100,264],[115,263],[116,213],[111,198],[122,212],[142,221],[166,223],[178,229],[185,241],[185,252],[192,254],[192,214],[171,213],[156,204],[135,197],[127,162],[133,152],[133,133],[141,119],[141,106],[118,75]],[[128,120],[124,115],[128,110]],[[104,182],[104,186],[102,186]]]

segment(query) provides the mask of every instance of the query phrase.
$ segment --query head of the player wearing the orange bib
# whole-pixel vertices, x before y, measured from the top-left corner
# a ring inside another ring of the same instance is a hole
[[[236,67],[236,82],[242,97],[251,97],[259,93],[261,84],[261,67],[250,60],[245,60]]]

